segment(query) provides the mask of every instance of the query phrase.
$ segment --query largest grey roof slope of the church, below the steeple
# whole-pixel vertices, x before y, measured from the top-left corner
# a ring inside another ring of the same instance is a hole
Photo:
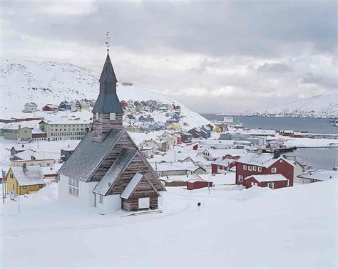
[[[88,181],[123,132],[121,129],[113,129],[101,143],[93,142],[93,132],[88,132],[58,174]]]

